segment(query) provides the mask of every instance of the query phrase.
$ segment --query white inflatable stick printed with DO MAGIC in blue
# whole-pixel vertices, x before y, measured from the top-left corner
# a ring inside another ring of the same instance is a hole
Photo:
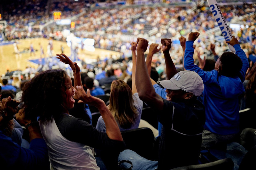
[[[218,23],[220,31],[224,36],[225,41],[232,40],[233,36],[232,36],[231,30],[228,27],[228,23],[226,22],[225,17],[222,15],[222,12],[220,10],[218,3],[216,2],[216,0],[207,0],[207,1],[212,11],[212,14]],[[228,46],[231,51],[236,52],[235,48],[232,45],[228,44]]]

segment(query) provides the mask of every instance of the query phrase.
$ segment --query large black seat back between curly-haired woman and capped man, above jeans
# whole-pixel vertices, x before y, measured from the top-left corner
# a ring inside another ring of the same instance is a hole
[[[121,131],[126,148],[133,150],[140,156],[152,160],[154,134],[150,128],[136,128],[132,130]]]

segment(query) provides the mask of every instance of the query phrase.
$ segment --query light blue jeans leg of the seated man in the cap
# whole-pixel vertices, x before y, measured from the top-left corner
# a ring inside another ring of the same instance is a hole
[[[158,161],[147,160],[132,150],[124,150],[119,154],[118,161],[129,160],[133,164],[132,170],[155,170],[158,166]],[[130,168],[128,163],[120,164],[122,168]]]

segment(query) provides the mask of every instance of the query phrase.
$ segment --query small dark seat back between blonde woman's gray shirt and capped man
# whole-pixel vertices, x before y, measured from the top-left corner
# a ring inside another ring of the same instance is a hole
[[[150,107],[142,109],[141,119],[147,121],[154,128],[158,129],[157,113]]]

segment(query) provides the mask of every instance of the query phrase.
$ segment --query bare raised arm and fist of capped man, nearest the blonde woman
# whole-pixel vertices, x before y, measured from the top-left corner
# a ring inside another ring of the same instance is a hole
[[[144,52],[147,50],[148,41],[142,38],[138,38],[137,43],[135,83],[139,97],[151,108],[160,111],[163,109],[164,102],[163,99],[158,94],[156,94],[155,89],[151,84],[145,62]]]

